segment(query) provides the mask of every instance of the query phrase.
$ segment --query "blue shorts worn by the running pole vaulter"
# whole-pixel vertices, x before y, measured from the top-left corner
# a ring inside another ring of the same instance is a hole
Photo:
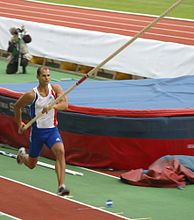
[[[30,135],[29,156],[33,158],[38,157],[40,156],[44,144],[51,149],[52,146],[57,142],[62,143],[62,139],[57,127],[32,128]]]

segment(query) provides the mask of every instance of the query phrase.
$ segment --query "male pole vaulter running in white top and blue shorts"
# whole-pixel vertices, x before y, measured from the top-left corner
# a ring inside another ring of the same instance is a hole
[[[39,67],[37,70],[37,79],[39,81],[37,87],[26,92],[21,96],[15,106],[15,120],[18,124],[18,133],[24,132],[24,122],[22,121],[22,109],[26,105],[30,105],[31,117],[34,118],[38,113],[43,115],[36,120],[32,125],[30,134],[29,154],[25,148],[18,150],[18,164],[25,164],[30,169],[33,169],[40,156],[43,145],[45,144],[54,153],[56,158],[55,171],[58,179],[58,191],[60,196],[68,195],[70,191],[64,185],[65,176],[65,157],[64,145],[57,128],[57,110],[65,110],[68,108],[67,98],[64,97],[56,103],[52,109],[49,109],[51,104],[62,92],[62,88],[58,84],[50,84],[50,71],[47,67]]]

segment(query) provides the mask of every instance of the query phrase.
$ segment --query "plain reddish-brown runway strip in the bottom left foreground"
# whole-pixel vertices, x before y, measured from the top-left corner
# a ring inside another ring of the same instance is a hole
[[[125,217],[0,177],[0,212],[27,220],[122,220]]]

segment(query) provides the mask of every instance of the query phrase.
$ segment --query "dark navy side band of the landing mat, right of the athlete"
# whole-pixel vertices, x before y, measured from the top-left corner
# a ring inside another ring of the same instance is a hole
[[[194,117],[128,118],[60,112],[58,119],[60,130],[78,134],[138,139],[194,138]]]

